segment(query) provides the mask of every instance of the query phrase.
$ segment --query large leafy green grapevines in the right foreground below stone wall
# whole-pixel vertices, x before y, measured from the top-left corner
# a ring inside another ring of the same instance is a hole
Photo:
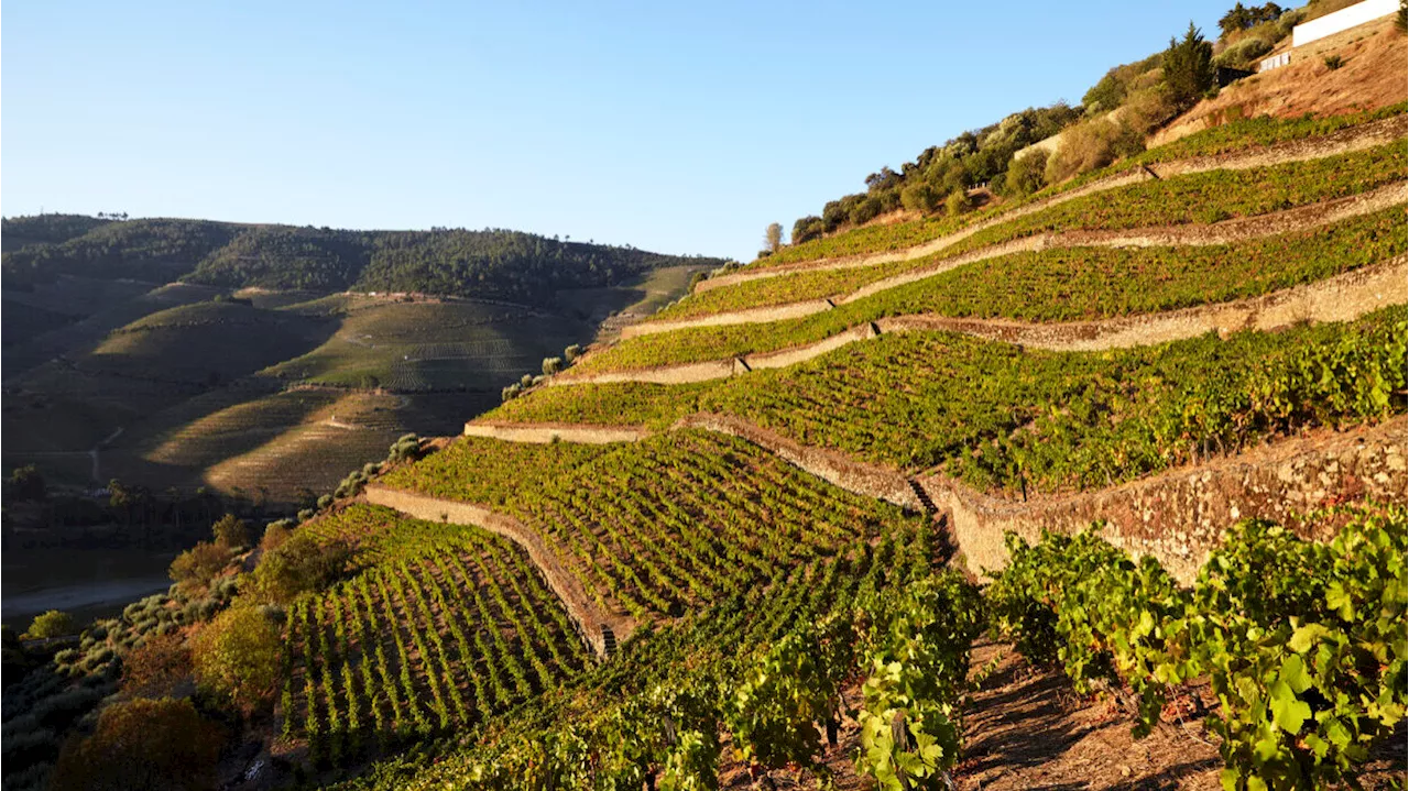
[[[1344,524],[1330,543],[1237,525],[1192,591],[1093,533],[1037,548],[1009,536],[1013,564],[991,601],[1036,659],[1057,646],[1078,684],[1103,676],[1140,692],[1138,732],[1165,688],[1206,676],[1224,788],[1358,787],[1409,705],[1409,511],[1343,510],[1312,529],[1320,521]]]

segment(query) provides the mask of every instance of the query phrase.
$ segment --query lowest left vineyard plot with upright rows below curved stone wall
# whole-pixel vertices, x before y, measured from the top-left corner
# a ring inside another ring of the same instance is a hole
[[[366,570],[289,612],[285,736],[338,763],[483,722],[589,664],[523,553],[468,526],[352,505],[311,528]]]

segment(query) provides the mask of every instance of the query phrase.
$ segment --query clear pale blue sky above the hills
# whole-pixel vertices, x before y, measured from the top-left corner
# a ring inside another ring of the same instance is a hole
[[[0,1],[0,214],[519,228],[750,258],[1231,0]]]

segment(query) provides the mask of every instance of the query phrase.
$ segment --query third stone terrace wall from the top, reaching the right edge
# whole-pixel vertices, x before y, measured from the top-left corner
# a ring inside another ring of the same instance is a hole
[[[961,332],[1053,352],[1105,352],[1198,338],[1209,332],[1281,329],[1315,321],[1353,321],[1368,312],[1409,304],[1409,256],[1347,272],[1316,283],[1295,286],[1262,297],[1219,303],[1157,314],[1102,321],[1027,322],[993,318],[957,318],[914,314],[881,318],[852,327],[816,343],[759,352],[744,357],[552,377],[552,387],[640,381],[688,384],[740,376],[751,370],[788,367],[834,349],[889,332]]]

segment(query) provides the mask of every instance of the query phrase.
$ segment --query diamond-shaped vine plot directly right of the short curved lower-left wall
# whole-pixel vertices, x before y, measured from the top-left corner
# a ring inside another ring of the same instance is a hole
[[[562,548],[599,602],[641,621],[712,604],[902,518],[707,432],[602,455],[520,490],[509,508]]]

